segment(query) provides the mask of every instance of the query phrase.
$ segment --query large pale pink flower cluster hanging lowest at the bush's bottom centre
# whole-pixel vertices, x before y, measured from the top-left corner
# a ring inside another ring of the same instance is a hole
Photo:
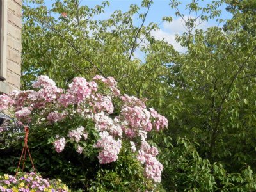
[[[116,161],[122,147],[121,144],[122,141],[120,139],[114,140],[107,131],[100,132],[100,140],[94,146],[101,149],[98,156],[99,162],[107,164]]]

